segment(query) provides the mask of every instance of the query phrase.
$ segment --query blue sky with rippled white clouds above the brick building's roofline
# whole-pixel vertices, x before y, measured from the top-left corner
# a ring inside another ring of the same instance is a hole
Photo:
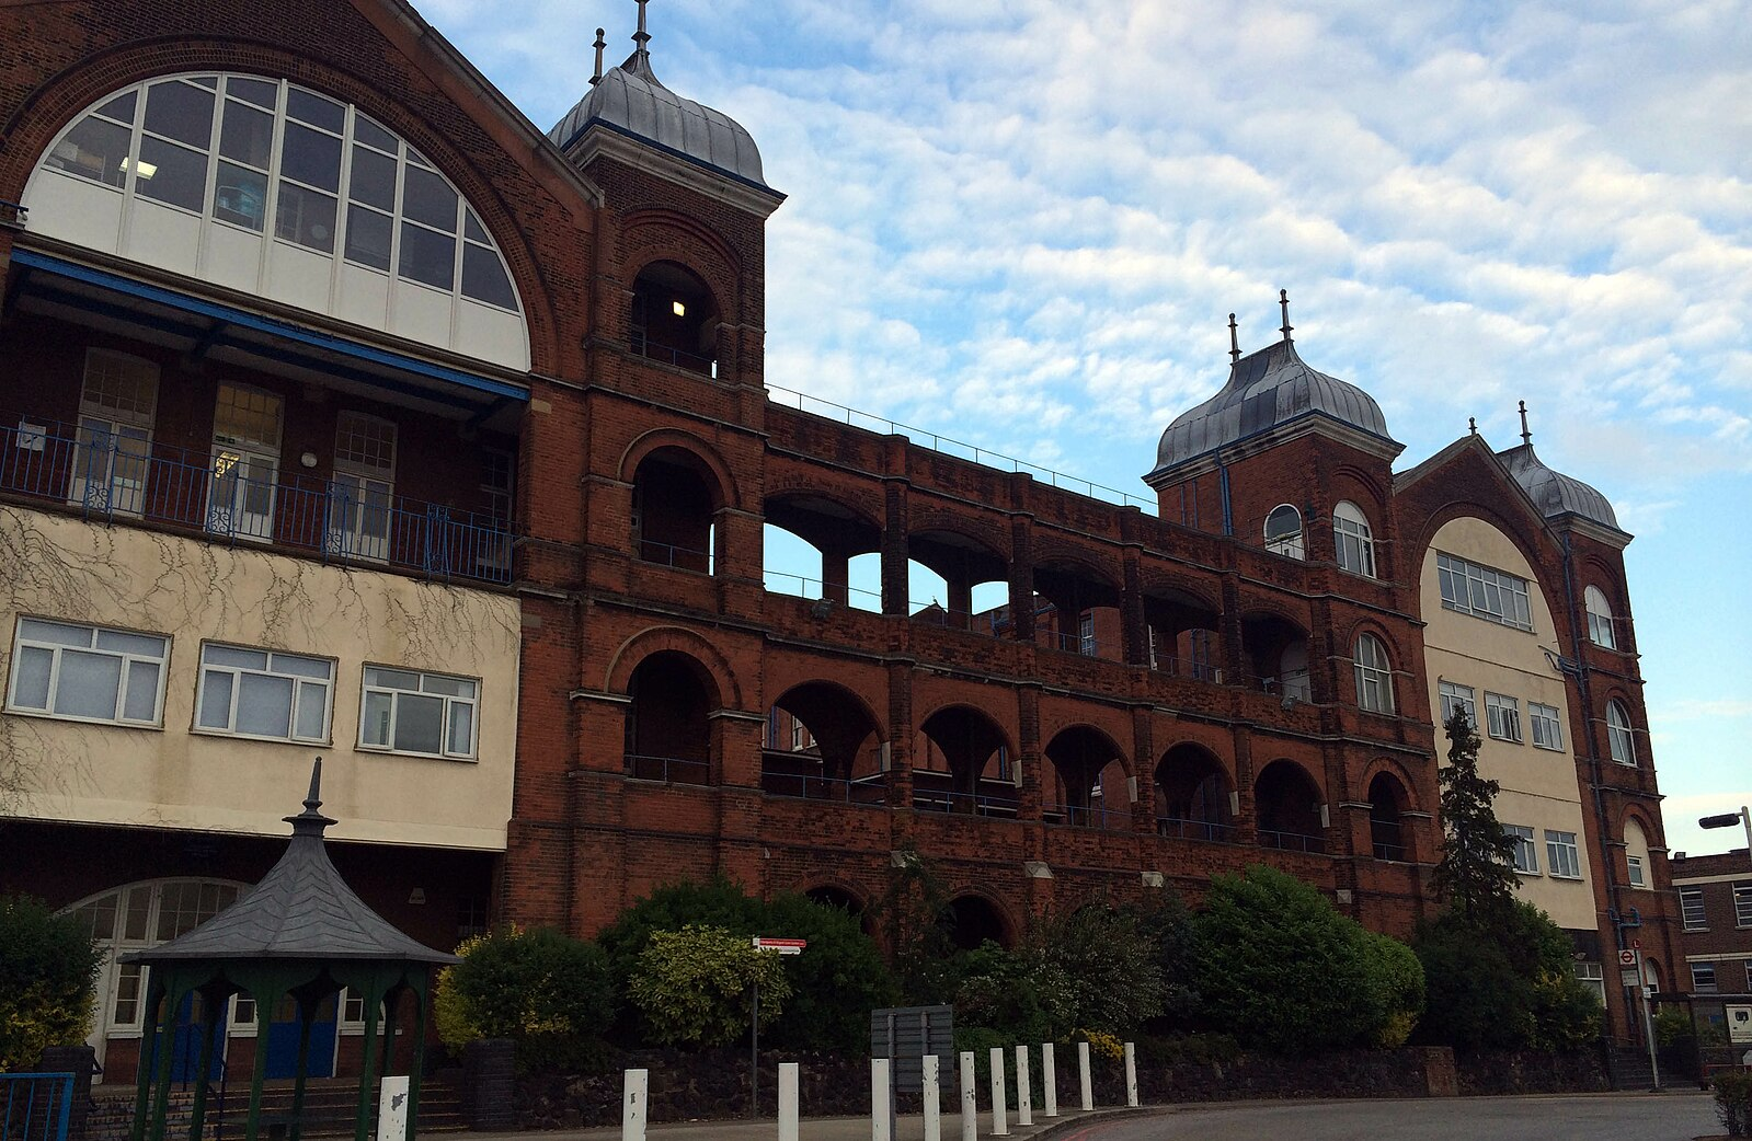
[[[632,0],[426,0],[538,126]],[[1745,0],[653,0],[743,122],[767,382],[1137,495],[1226,318],[1610,499],[1668,842],[1752,803],[1752,10]],[[1738,504],[1738,506],[1736,506]]]

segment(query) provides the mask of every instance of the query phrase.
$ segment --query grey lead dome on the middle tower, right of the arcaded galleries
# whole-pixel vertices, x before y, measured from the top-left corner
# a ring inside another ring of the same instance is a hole
[[[1309,416],[1374,436],[1395,453],[1402,446],[1388,434],[1388,420],[1374,397],[1310,369],[1286,338],[1235,360],[1221,392],[1174,418],[1156,448],[1156,469],[1146,480]]]

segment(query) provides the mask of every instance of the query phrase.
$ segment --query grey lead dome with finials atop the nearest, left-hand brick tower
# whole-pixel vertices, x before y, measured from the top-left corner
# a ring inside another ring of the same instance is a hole
[[[590,80],[590,93],[548,131],[548,138],[561,150],[569,150],[592,126],[603,126],[739,182],[771,189],[760,173],[760,150],[739,122],[722,110],[682,98],[657,80],[650,51],[645,47],[650,35],[645,32],[643,4],[639,4],[639,30],[632,40],[638,47],[627,61],[596,75]],[[601,28],[597,28],[597,72],[601,72]]]

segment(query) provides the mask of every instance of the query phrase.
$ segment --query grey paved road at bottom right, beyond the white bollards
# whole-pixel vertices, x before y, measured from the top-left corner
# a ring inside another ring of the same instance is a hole
[[[1720,1136],[1708,1094],[1232,1102],[1091,1122],[1056,1141],[1691,1141]]]

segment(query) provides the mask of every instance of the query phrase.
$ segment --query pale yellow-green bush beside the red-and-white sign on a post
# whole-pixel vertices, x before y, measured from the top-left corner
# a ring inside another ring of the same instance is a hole
[[[652,931],[627,998],[645,1015],[655,1041],[722,1046],[753,1020],[755,985],[766,1026],[790,998],[780,957],[757,950],[745,934],[689,924],[680,931]]]

